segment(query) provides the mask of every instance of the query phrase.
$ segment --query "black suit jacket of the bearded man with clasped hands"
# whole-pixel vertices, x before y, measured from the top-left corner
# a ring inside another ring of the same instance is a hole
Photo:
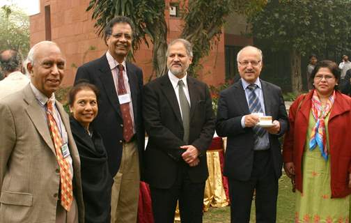
[[[201,183],[208,178],[206,151],[214,134],[212,100],[203,82],[188,76],[187,84],[191,103],[189,144],[201,153],[198,166],[187,168],[190,180]],[[144,86],[143,118],[148,133],[146,182],[153,187],[169,188],[176,180],[179,164],[184,164],[185,150],[180,146],[185,143],[176,93],[167,74]]]

